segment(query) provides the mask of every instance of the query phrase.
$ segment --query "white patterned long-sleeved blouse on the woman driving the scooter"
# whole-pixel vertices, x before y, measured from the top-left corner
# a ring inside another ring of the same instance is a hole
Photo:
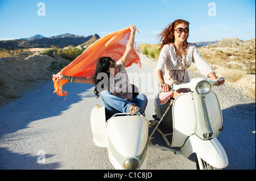
[[[192,62],[196,65],[197,69],[199,69],[200,72],[205,75],[205,77],[207,77],[209,73],[213,72],[212,68],[201,56],[196,46],[192,43],[187,44],[185,56],[183,58],[176,55],[174,44],[164,45],[160,52],[155,72],[158,70],[162,71],[164,82],[168,83],[169,85],[172,85],[173,82],[177,82],[176,76],[178,81],[183,79],[184,60],[186,69],[183,83],[190,82],[187,69],[189,66],[191,66]],[[179,65],[179,74],[177,74],[177,65]]]

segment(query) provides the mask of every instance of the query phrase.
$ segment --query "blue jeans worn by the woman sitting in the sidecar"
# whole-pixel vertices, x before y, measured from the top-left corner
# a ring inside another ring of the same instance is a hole
[[[139,94],[134,99],[127,101],[113,95],[110,91],[104,90],[101,92],[101,99],[106,111],[110,115],[114,115],[115,113],[129,113],[131,104],[138,106],[139,113],[143,114],[147,106],[147,97],[144,94]]]

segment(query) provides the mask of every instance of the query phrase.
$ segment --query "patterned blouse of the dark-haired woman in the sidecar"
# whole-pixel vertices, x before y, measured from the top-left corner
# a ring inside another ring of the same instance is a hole
[[[112,76],[113,75],[110,75],[109,91],[119,98],[131,100],[133,98],[133,90],[131,89],[131,84],[126,73],[125,66],[123,65],[123,61],[117,61],[114,82],[112,81]]]

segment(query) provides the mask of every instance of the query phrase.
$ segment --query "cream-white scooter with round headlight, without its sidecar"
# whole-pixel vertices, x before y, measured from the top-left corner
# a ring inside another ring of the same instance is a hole
[[[176,154],[189,157],[196,153],[198,169],[228,166],[226,152],[216,138],[224,128],[220,102],[211,91],[212,85],[217,85],[217,81],[195,78],[189,83],[172,85],[172,90],[189,88],[191,92],[169,99],[163,105],[158,103],[158,96],[155,99],[154,117],[162,117],[155,129],[162,134],[168,148],[180,148],[180,151],[172,149]]]

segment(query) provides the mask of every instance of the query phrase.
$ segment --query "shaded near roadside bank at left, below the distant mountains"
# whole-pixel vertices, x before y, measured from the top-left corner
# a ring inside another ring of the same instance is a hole
[[[18,98],[31,87],[38,86],[38,83],[51,80],[52,74],[70,63],[59,56],[55,49],[52,56],[39,48],[24,50],[20,55],[0,57],[0,106],[5,100]],[[56,69],[53,63],[61,66]]]

